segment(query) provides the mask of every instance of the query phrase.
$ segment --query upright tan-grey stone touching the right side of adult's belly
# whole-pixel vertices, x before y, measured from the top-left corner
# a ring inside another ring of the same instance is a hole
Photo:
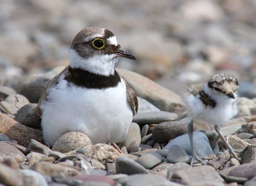
[[[127,147],[129,147],[129,145],[131,145],[131,143],[133,141],[136,141],[138,143],[138,145],[140,144],[140,141],[141,141],[140,126],[137,123],[132,123],[131,124],[126,138],[124,139],[123,142],[119,143],[119,146],[120,147],[125,146],[127,148]],[[127,148],[127,150],[128,149],[129,148]]]

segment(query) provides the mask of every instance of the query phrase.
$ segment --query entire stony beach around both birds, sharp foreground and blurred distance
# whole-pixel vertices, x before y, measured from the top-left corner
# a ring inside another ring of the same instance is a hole
[[[0,3],[0,185],[256,185],[254,1]],[[86,27],[113,31],[138,57],[116,65],[139,99],[117,144],[123,154],[81,132],[64,134],[51,149],[43,140],[38,99]],[[182,92],[220,72],[240,83],[240,112],[222,132],[231,147],[246,150],[238,162],[212,125],[195,122],[196,153],[210,159],[192,167]]]

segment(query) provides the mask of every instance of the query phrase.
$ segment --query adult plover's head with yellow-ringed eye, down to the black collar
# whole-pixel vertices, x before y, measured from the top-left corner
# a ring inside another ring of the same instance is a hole
[[[120,57],[137,60],[116,41],[115,35],[103,28],[86,28],[77,33],[70,54],[70,67],[101,75],[114,74]]]

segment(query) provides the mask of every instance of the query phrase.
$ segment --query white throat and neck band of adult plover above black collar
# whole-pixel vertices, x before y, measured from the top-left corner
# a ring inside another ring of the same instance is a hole
[[[85,59],[79,56],[74,49],[71,49],[70,52],[71,67],[83,69],[94,74],[113,75],[115,73],[114,67],[118,60],[119,57],[116,57],[115,54],[94,55]]]

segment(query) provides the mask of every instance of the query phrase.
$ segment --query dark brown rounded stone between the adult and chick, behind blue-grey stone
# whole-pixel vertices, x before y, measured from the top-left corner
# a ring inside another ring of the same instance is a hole
[[[187,123],[179,121],[159,123],[152,132],[154,142],[163,143],[187,133]]]

